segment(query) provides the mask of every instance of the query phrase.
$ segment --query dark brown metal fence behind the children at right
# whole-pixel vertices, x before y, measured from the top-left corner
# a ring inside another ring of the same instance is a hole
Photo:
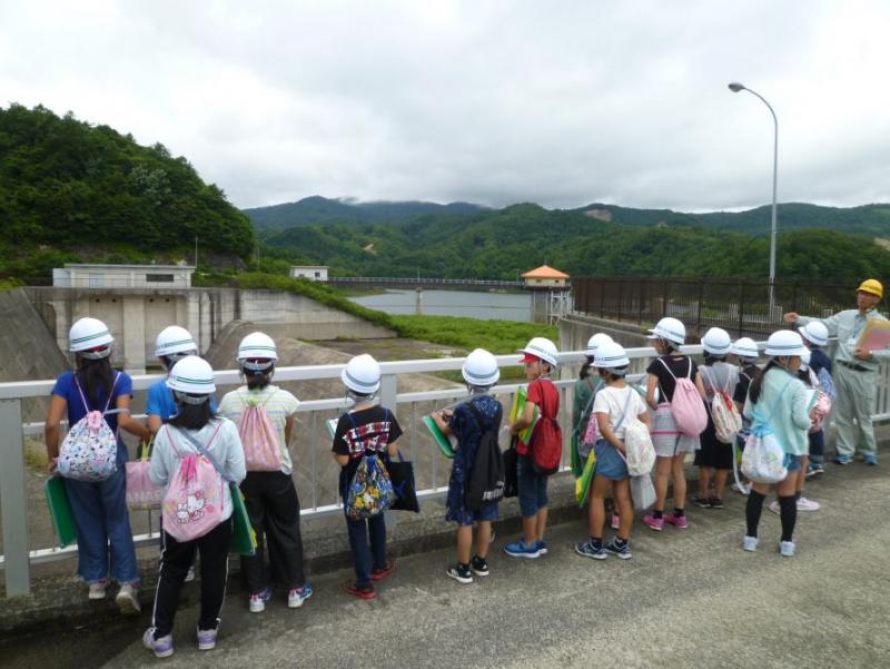
[[[767,282],[584,277],[572,286],[575,312],[641,326],[673,316],[699,336],[719,326],[762,337],[784,326],[784,313],[824,317],[854,305],[854,287],[834,284],[777,283],[772,313]]]

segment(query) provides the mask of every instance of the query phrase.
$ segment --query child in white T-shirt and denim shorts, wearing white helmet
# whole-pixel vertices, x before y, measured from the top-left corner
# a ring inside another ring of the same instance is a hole
[[[587,504],[590,539],[576,544],[575,552],[594,560],[604,560],[609,553],[629,560],[633,504],[630,475],[624,459],[624,424],[631,416],[636,416],[647,429],[651,429],[651,423],[645,402],[624,381],[631,364],[624,347],[615,342],[602,344],[596,351],[593,364],[605,384],[593,401],[593,413],[601,436],[594,446],[596,465]],[[603,544],[605,495],[610,488],[614,492],[620,520],[615,538]]]

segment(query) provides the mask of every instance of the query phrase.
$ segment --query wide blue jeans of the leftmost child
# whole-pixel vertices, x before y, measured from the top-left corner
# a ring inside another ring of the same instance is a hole
[[[77,573],[87,583],[108,580],[109,558],[113,580],[119,583],[139,580],[127,511],[126,461],[127,451],[119,446],[118,470],[105,481],[62,479],[77,528]]]

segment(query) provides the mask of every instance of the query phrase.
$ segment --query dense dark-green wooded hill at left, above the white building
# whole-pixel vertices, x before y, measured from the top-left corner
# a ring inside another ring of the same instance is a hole
[[[0,276],[47,277],[58,263],[191,259],[243,265],[250,220],[160,144],[68,114],[0,108]]]

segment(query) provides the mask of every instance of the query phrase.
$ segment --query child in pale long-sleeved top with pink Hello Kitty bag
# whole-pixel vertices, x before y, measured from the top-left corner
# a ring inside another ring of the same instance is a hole
[[[184,463],[188,462],[189,468],[194,465],[197,470],[198,466],[204,466],[195,464],[197,459],[209,460],[222,490],[222,502],[221,522],[195,539],[178,541],[167,530],[164,531],[164,552],[151,627],[142,636],[145,647],[159,658],[174,653],[172,629],[179,606],[179,591],[195,561],[196,552],[200,553],[201,574],[198,649],[210,650],[216,646],[219,617],[226,597],[233,538],[233,500],[228,482],[238,483],[246,474],[238,429],[210,407],[210,396],[216,391],[210,364],[195,355],[184,357],[170,370],[167,385],[174,392],[176,415],[155,437],[149,476],[155,485],[168,491],[170,484],[178,479]],[[192,474],[192,480],[199,480],[197,474]],[[204,503],[204,498],[195,500],[196,505]]]

